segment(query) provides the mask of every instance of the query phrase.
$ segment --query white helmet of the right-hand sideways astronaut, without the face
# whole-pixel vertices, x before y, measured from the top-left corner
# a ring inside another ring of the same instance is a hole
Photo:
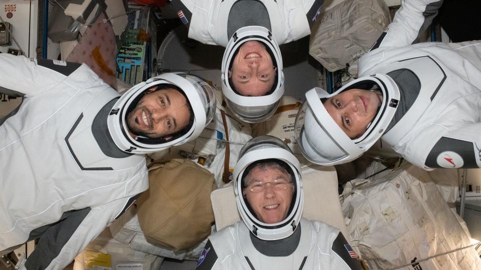
[[[332,118],[321,99],[355,88],[378,90],[382,94],[382,101],[366,131],[352,139]],[[307,91],[306,101],[295,122],[295,135],[302,154],[309,161],[321,165],[341,164],[358,158],[386,131],[397,109],[399,98],[397,84],[384,74],[360,77],[332,94],[318,87]]]

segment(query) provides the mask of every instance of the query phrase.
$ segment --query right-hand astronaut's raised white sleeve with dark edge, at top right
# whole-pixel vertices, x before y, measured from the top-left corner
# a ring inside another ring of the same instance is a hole
[[[394,19],[376,41],[377,47],[403,47],[419,42],[443,0],[402,0]]]

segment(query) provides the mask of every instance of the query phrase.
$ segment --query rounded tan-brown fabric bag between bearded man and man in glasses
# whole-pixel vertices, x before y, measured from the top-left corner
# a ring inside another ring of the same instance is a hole
[[[210,234],[214,175],[191,160],[174,158],[149,168],[149,189],[138,199],[140,227],[148,242],[184,250]]]

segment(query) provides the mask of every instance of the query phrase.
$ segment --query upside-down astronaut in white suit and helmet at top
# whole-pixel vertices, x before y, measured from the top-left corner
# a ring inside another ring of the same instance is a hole
[[[221,45],[222,93],[241,120],[260,122],[284,93],[279,44],[311,33],[324,0],[182,0],[179,16],[188,37]]]

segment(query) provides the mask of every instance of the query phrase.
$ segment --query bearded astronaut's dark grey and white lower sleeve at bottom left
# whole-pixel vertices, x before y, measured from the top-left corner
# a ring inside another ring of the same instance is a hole
[[[50,226],[22,269],[63,269],[90,241],[97,237],[134,197],[122,198],[100,206],[67,212],[67,217]]]

